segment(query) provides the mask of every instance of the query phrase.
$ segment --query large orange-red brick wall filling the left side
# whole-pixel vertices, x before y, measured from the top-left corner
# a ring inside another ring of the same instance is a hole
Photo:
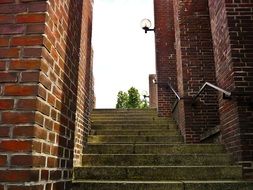
[[[0,189],[69,189],[89,123],[91,2],[5,0],[0,13]]]

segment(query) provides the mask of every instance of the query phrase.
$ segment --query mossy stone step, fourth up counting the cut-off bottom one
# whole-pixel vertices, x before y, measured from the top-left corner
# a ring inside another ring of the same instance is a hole
[[[222,145],[215,144],[92,144],[86,154],[203,154],[224,153]]]

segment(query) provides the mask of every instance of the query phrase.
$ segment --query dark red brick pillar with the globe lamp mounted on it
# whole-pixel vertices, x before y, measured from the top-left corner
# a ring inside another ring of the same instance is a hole
[[[175,96],[168,82],[177,89],[173,1],[155,0],[156,73],[159,116],[170,116]]]

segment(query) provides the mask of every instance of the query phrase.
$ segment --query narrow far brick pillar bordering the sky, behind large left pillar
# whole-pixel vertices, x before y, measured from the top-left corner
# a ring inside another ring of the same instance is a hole
[[[80,63],[78,68],[78,90],[77,90],[77,112],[75,133],[75,165],[80,165],[82,159],[83,145],[90,130],[90,111],[94,107],[93,103],[93,75],[92,75],[92,1],[84,1],[82,10],[80,38]],[[80,19],[80,18],[78,18]],[[78,26],[78,25],[77,25]],[[79,26],[80,27],[80,26]],[[77,56],[78,57],[78,56]]]

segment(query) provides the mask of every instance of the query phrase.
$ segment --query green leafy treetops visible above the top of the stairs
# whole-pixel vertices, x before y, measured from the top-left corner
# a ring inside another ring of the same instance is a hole
[[[117,95],[116,108],[123,109],[145,109],[148,108],[148,102],[146,99],[141,99],[139,91],[131,87],[127,92],[119,91]]]

